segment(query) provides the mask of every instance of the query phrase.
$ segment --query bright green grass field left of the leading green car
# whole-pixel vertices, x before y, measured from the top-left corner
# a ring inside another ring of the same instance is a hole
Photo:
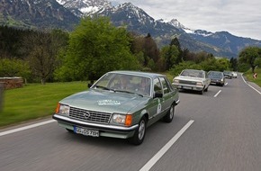
[[[30,84],[4,91],[0,127],[51,116],[58,101],[87,89],[87,82]]]

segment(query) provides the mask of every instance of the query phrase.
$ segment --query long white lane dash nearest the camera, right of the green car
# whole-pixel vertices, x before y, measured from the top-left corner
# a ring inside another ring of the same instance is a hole
[[[170,139],[166,143],[166,145],[157,152],[157,154],[154,157],[148,160],[148,162],[144,166],[142,166],[142,168],[139,169],[139,171],[148,171],[152,166],[154,166],[157,163],[157,160],[159,160],[159,158],[162,157],[169,148],[171,148],[175,141],[180,138],[180,136],[184,133],[185,130],[187,130],[192,125],[192,123],[193,120],[188,121],[184,125],[184,127],[181,130],[179,130],[175,134],[175,136],[172,139]]]

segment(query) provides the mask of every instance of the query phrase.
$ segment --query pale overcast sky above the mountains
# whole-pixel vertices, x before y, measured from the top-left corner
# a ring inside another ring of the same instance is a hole
[[[110,1],[110,0],[109,0]],[[112,0],[111,0],[112,1]],[[185,27],[261,40],[260,0],[113,0],[130,2],[154,19],[177,19]]]

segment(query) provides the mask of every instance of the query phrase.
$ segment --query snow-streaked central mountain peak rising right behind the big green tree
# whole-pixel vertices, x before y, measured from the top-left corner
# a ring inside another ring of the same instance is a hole
[[[124,3],[105,10],[100,10],[96,14],[109,16],[115,26],[126,25],[129,31],[135,31],[142,35],[150,33],[153,37],[171,37],[181,31],[168,23],[160,23],[149,16],[139,7]]]

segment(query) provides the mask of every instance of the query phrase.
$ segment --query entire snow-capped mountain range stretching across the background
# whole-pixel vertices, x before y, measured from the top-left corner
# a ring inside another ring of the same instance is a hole
[[[144,10],[130,4],[112,5],[107,0],[1,0],[0,24],[22,28],[58,28],[72,31],[80,18],[102,15],[110,17],[115,26],[126,25],[128,31],[148,33],[158,47],[175,37],[182,48],[193,52],[206,51],[217,57],[237,58],[247,46],[261,47],[260,40],[238,37],[228,31],[190,30],[173,19],[155,20]]]

